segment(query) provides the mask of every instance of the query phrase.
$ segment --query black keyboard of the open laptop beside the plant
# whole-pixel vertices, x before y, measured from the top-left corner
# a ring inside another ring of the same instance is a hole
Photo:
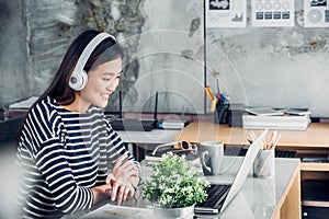
[[[225,193],[227,194],[230,185],[220,185],[220,184],[211,184],[209,187],[206,188],[207,199],[203,203],[196,204],[196,207],[215,207],[220,199],[223,201],[225,199]]]

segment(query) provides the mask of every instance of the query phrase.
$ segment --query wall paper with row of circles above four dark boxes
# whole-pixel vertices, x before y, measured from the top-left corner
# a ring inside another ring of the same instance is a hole
[[[294,0],[252,0],[252,26],[294,26]]]

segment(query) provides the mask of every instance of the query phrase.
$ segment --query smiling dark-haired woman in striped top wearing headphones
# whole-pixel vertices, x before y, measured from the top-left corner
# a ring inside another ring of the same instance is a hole
[[[122,74],[123,50],[106,33],[86,31],[68,48],[52,84],[20,132],[20,209],[59,218],[105,197],[134,195],[139,163],[102,113]]]

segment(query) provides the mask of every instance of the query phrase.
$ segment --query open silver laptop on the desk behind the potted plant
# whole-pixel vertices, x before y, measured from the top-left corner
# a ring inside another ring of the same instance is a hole
[[[195,214],[218,214],[228,206],[242,187],[266,134],[268,129],[250,145],[234,182],[231,184],[212,184],[209,189],[207,189],[207,199],[195,205]]]

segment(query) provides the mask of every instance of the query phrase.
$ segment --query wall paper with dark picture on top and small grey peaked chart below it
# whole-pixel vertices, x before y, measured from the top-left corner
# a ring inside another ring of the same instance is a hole
[[[206,0],[206,27],[246,27],[247,0]]]

